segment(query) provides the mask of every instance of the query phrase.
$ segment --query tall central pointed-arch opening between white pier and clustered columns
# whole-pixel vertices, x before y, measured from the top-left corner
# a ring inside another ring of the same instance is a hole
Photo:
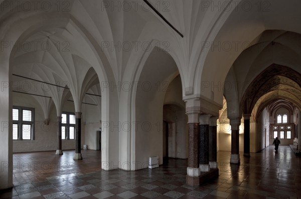
[[[135,120],[138,122],[135,127],[135,158],[142,164],[136,169],[147,167],[145,162],[152,156],[159,156],[159,164],[163,163],[164,155],[187,158],[185,139],[182,139],[182,144],[177,137],[185,137],[187,132],[182,83],[173,58],[162,49],[154,48],[141,71],[139,82],[135,96]]]

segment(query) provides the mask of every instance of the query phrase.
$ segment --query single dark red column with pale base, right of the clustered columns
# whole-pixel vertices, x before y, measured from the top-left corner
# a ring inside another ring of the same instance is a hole
[[[239,125],[240,118],[230,118],[231,125],[231,158],[230,163],[240,163],[239,157]]]

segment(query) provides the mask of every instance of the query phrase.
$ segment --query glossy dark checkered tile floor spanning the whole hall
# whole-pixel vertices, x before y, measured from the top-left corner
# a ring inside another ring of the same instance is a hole
[[[301,198],[301,157],[287,146],[267,147],[241,164],[230,164],[230,152],[218,152],[219,178],[191,187],[185,184],[187,160],[170,159],[156,169],[100,169],[100,151],[14,154],[14,188],[0,198]]]

